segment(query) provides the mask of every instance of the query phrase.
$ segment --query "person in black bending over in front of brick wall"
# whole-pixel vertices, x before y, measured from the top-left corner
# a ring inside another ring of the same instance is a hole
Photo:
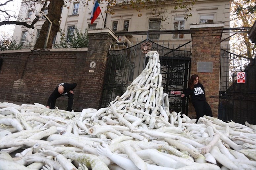
[[[61,96],[68,96],[68,107],[67,111],[72,111],[73,100],[74,100],[74,92],[73,89],[76,88],[76,83],[68,84],[68,83],[60,83],[55,90],[52,92],[47,101],[47,108],[55,109],[56,99]]]

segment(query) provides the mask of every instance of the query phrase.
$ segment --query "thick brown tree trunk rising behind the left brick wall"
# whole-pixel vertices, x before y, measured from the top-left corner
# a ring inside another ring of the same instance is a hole
[[[52,28],[50,31],[50,36],[48,39],[48,43],[46,48],[52,48],[52,42],[54,37],[57,35],[59,32],[59,20],[61,17],[61,7],[64,5],[63,0],[52,0],[48,6],[48,13],[47,17],[52,21]],[[44,48],[45,45],[45,40],[47,38],[47,32],[49,28],[49,22],[46,19],[44,24],[42,25],[42,29],[40,31],[40,35],[36,41],[35,47],[34,48]]]

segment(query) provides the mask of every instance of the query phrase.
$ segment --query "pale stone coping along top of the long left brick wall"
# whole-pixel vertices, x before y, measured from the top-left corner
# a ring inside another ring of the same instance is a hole
[[[0,51],[0,54],[5,53],[28,53],[31,51],[51,51],[51,52],[65,52],[65,51],[88,51],[88,48],[47,48],[47,49],[23,49],[23,50],[6,50],[6,51]]]

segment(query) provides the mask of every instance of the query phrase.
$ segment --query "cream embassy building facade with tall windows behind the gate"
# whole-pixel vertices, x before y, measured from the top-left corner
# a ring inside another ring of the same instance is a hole
[[[36,12],[39,12],[42,8],[41,4],[33,6],[33,10],[28,9],[28,5],[22,1],[19,16],[23,21],[30,24],[35,18]],[[191,11],[185,11],[184,9],[174,10],[174,4],[166,1],[165,9],[163,12],[166,16],[165,21],[161,17],[152,15],[150,10],[141,9],[140,13],[142,14],[138,17],[139,12],[127,6],[126,8],[114,7],[114,14],[106,13],[107,4],[100,4],[101,14],[97,19],[91,24],[91,11],[93,8],[93,2],[89,1],[89,4],[86,5],[85,1],[71,1],[67,2],[62,8],[61,12],[61,23],[60,29],[62,33],[66,33],[66,41],[69,40],[67,34],[72,35],[75,31],[75,28],[81,29],[82,32],[92,29],[100,28],[110,28],[119,36],[119,42],[126,41],[126,44],[138,40],[144,40],[149,38],[151,40],[163,41],[164,44],[168,46],[178,47],[179,44],[184,44],[191,40],[190,34],[184,34],[182,30],[190,30],[190,24],[194,23],[216,23],[223,22],[224,28],[229,28],[230,21],[230,1],[229,0],[198,0],[193,6]],[[44,10],[47,15],[47,8]],[[161,13],[163,13],[161,12]],[[187,20],[184,19],[185,12],[192,14],[188,17]],[[104,23],[105,21],[105,23]],[[13,37],[17,39],[17,42],[22,46],[33,46],[36,43],[37,38],[39,37],[41,27],[44,22],[47,22],[46,18],[43,16],[39,21],[34,25],[34,29],[28,29],[23,26],[16,25]],[[149,34],[147,32],[157,32],[157,31],[179,31],[178,34]],[[125,32],[142,32],[140,35],[120,35],[120,33]],[[143,35],[144,33],[144,35]],[[225,39],[229,34],[223,34],[222,39]],[[53,40],[53,43],[56,43],[60,40],[61,35],[58,33]],[[128,41],[128,42],[127,42]],[[224,41],[221,46],[227,47],[228,40]]]

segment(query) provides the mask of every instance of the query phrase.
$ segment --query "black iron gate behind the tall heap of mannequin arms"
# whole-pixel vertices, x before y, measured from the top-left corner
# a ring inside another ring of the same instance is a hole
[[[115,100],[116,96],[121,96],[145,68],[148,60],[145,58],[141,46],[150,43],[150,51],[157,51],[160,54],[162,86],[164,93],[169,96],[170,111],[182,111],[187,114],[188,98],[181,100],[179,92],[187,87],[190,76],[191,45],[187,45],[190,42],[171,49],[164,47],[164,44],[159,45],[151,40],[144,40],[129,48],[119,47],[121,49],[110,50],[101,107],[107,107],[109,102]]]

